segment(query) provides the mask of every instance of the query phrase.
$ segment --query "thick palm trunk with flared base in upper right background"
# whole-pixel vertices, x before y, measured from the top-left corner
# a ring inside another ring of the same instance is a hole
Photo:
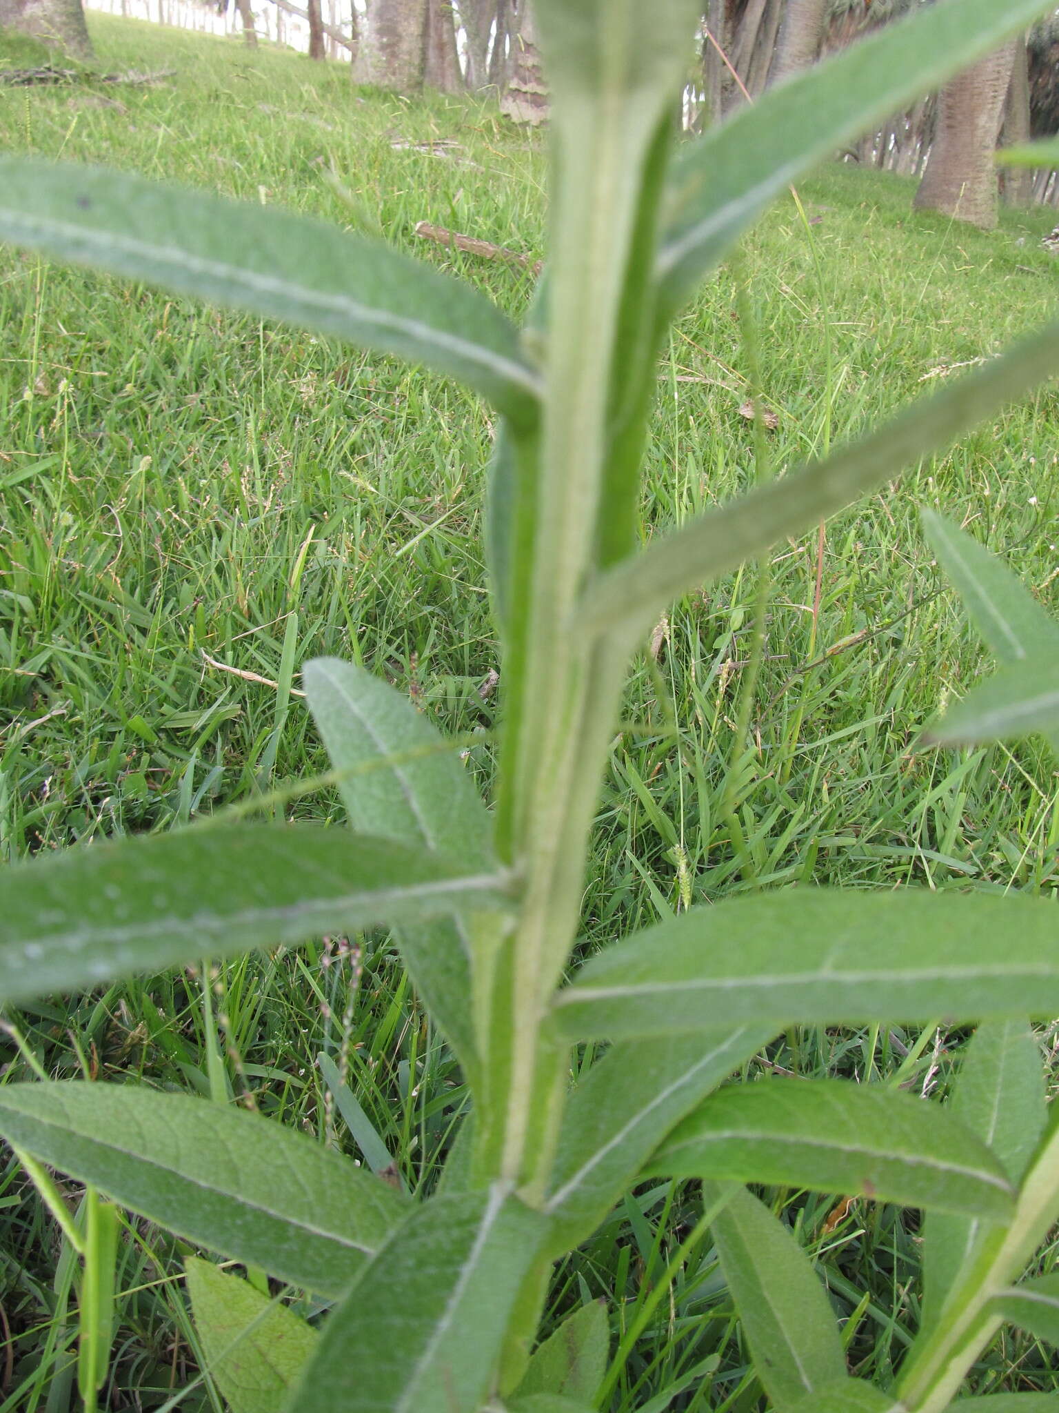
[[[938,129],[914,205],[940,211],[983,230],[997,225],[993,154],[1004,112],[1015,44],[994,49],[942,89]]]

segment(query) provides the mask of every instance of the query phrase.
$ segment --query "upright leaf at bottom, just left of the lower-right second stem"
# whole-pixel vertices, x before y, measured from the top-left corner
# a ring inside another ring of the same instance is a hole
[[[772,1402],[785,1409],[844,1379],[846,1358],[827,1296],[779,1218],[743,1188],[710,1232],[754,1369]]]

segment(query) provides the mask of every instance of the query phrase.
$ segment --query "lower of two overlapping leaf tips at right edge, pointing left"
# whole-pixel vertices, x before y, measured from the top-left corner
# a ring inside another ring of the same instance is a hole
[[[923,733],[923,745],[1017,740],[1041,732],[1059,738],[1059,656],[1001,667],[949,706]]]

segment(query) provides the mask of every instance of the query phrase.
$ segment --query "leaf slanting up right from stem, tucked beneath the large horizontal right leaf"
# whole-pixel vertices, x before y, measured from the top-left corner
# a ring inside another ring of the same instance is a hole
[[[613,1046],[570,1095],[545,1211],[556,1249],[583,1241],[685,1113],[775,1034],[747,1024]]]

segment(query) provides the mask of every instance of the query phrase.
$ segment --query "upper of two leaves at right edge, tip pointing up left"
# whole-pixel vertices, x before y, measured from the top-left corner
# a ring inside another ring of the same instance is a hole
[[[998,555],[933,510],[919,517],[967,616],[1001,663],[1059,656],[1059,623]]]

